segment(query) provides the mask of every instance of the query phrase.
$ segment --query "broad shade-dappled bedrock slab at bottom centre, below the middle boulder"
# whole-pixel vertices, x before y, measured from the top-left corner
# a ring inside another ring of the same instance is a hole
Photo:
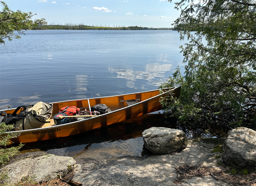
[[[218,160],[214,156],[220,153],[211,153],[212,149],[208,149],[213,146],[215,145],[202,141],[188,140],[186,149],[176,154],[152,155],[148,158],[127,156],[106,160],[77,156],[73,180],[81,182],[83,186],[176,186],[177,184],[173,183],[177,177],[175,168],[184,163],[203,164],[219,170]],[[185,181],[185,185],[228,186],[207,176],[193,177]]]

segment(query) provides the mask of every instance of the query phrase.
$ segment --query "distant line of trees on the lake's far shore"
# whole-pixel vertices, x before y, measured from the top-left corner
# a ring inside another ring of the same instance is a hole
[[[26,28],[24,28],[26,29]],[[115,26],[113,27],[106,25],[87,25],[84,23],[65,23],[65,24],[55,24],[50,23],[46,24],[38,24],[37,26],[33,26],[31,29],[34,30],[159,30],[166,29],[170,30],[171,28],[154,28],[154,27],[141,27],[141,26]]]

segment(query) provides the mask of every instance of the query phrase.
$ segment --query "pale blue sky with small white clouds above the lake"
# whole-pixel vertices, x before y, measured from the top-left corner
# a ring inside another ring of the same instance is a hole
[[[179,16],[165,0],[5,0],[9,9],[32,12],[49,23],[172,27]]]

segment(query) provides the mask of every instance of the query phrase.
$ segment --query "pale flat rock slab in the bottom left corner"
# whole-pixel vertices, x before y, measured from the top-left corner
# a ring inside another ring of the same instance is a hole
[[[24,153],[9,162],[5,170],[10,177],[6,182],[15,183],[24,176],[36,176],[37,181],[54,178],[58,173],[67,174],[76,161],[71,157],[56,156],[45,152]]]

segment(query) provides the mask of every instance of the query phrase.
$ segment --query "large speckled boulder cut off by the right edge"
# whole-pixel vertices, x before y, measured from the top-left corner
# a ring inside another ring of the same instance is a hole
[[[227,164],[247,167],[256,163],[256,132],[239,127],[228,132],[223,160]]]

